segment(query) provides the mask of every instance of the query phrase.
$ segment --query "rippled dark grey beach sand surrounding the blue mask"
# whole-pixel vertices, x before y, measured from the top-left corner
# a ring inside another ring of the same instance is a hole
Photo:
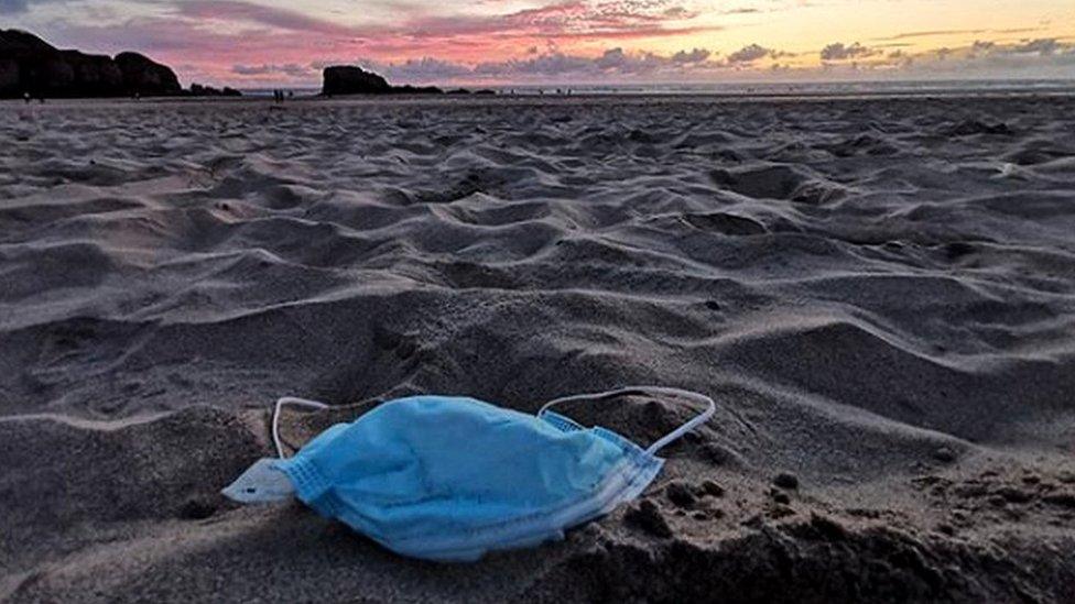
[[[0,109],[0,600],[1075,601],[1073,97]],[[563,542],[218,494],[278,396],[637,383],[717,415]]]

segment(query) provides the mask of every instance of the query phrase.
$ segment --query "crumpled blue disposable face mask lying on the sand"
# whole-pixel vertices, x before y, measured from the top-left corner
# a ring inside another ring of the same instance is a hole
[[[648,394],[706,406],[649,448],[551,408]],[[241,503],[297,497],[388,549],[414,558],[471,561],[490,550],[536,546],[638,497],[656,477],[663,447],[714,414],[712,398],[632,387],[569,396],[536,416],[473,398],[413,396],[333,426],[283,459],[280,409],[324,408],[283,398],[272,432],[281,459],[262,459],[224,490]]]

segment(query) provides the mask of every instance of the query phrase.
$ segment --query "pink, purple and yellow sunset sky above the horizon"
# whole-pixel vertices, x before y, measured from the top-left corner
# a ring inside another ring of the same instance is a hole
[[[239,87],[1075,79],[1075,0],[0,0],[0,28]]]

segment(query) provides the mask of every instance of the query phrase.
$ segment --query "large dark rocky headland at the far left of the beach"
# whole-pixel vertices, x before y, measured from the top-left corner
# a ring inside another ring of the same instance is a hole
[[[111,58],[62,51],[19,30],[0,30],[0,98],[129,97],[182,94],[167,66],[137,54]]]

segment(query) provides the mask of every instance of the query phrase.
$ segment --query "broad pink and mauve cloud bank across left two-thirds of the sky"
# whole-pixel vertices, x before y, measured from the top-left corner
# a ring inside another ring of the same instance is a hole
[[[185,0],[167,7],[159,18],[102,25],[54,22],[53,30],[65,45],[100,52],[135,48],[188,66],[199,78],[220,80],[235,77],[235,65],[308,65],[359,56],[436,56],[475,65],[521,57],[521,48],[529,46],[613,46],[716,29],[692,24],[696,15],[673,0],[561,0],[515,12],[457,17],[411,11],[392,26],[349,25],[248,0]],[[122,47],[101,41],[122,41]]]

